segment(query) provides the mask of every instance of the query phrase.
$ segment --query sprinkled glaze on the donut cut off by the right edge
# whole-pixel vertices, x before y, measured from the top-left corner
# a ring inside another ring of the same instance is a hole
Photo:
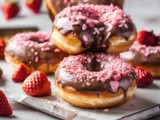
[[[134,63],[159,63],[160,46],[146,46],[135,41],[129,51],[121,53],[120,56]]]

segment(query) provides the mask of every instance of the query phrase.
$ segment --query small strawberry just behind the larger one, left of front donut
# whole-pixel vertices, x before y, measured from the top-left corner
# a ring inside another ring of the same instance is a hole
[[[28,67],[24,64],[19,64],[12,75],[12,80],[14,82],[23,82],[29,75],[30,71]]]

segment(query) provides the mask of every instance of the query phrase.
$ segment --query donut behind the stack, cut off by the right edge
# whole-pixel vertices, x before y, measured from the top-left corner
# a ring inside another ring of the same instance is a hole
[[[133,66],[141,66],[152,74],[160,77],[160,46],[147,46],[135,41],[130,49],[120,54],[121,58],[128,60]]]

